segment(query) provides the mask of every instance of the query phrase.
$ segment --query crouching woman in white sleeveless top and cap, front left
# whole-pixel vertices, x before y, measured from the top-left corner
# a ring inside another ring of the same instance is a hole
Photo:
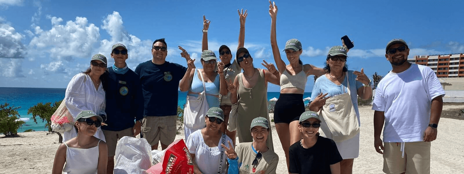
[[[102,117],[84,110],[77,114],[76,120],[77,136],[58,147],[52,174],[106,174],[106,143],[93,136],[102,125]]]

